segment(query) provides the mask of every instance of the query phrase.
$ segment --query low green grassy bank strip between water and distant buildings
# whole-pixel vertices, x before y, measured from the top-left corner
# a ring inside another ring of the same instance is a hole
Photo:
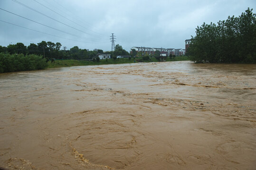
[[[168,57],[166,61],[184,61],[190,60],[187,56],[180,56],[171,58]],[[48,61],[47,68],[59,68],[59,67],[71,67],[71,66],[90,66],[90,65],[103,65],[103,64],[124,64],[124,63],[133,63],[134,59],[122,58],[122,59],[102,59],[99,62],[97,61],[84,61],[84,60],[55,60],[54,62]],[[135,62],[159,62],[155,58],[150,58],[150,60],[143,60],[142,58],[136,58]]]

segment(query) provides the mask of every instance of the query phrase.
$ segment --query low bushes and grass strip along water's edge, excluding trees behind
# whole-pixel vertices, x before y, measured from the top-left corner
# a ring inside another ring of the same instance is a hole
[[[182,61],[190,60],[188,56],[179,57],[163,57],[163,61]],[[129,58],[114,58],[114,59],[101,59],[101,60],[74,60],[74,59],[56,59],[48,60],[43,56],[35,54],[9,54],[0,53],[0,73],[37,70],[45,68],[59,68],[71,66],[89,66],[89,65],[104,65],[104,64],[124,64],[134,62],[159,62],[160,58],[154,57],[129,57]]]

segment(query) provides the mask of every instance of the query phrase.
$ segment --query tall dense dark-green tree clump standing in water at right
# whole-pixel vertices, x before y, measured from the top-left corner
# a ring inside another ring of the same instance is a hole
[[[248,8],[239,17],[196,28],[188,53],[197,63],[256,63],[256,14]]]

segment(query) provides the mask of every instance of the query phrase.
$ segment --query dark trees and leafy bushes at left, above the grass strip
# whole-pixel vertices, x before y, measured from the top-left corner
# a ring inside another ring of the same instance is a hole
[[[80,49],[78,46],[70,50],[61,50],[61,43],[57,42],[39,42],[30,43],[25,46],[22,42],[9,44],[7,47],[0,46],[0,73],[44,69],[47,62],[55,59],[76,59],[76,60],[93,60],[99,61],[100,54],[110,54],[116,59],[119,55],[128,55],[129,53],[123,47],[117,44],[114,51],[87,51]]]

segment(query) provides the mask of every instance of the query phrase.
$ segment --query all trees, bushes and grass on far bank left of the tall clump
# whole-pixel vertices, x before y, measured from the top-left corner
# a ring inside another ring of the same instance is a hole
[[[28,47],[20,42],[14,45],[9,44],[8,47],[0,46],[0,73],[70,66],[189,60],[187,56],[161,57],[160,51],[156,51],[154,56],[142,55],[142,53],[130,56],[119,44],[115,46],[114,51],[106,52],[82,50],[77,46],[65,51],[60,50],[60,47],[59,42],[55,44],[44,41],[38,45],[31,43]],[[111,59],[100,59],[97,56],[98,53],[111,54]],[[129,58],[117,58],[119,55],[129,56]]]

